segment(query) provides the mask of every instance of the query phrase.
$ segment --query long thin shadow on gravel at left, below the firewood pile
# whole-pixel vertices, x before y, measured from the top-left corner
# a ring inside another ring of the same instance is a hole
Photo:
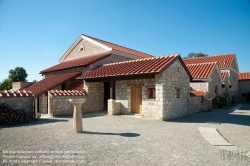
[[[22,124],[13,124],[13,125],[0,125],[1,128],[13,128],[13,127],[23,127],[23,126],[33,126],[33,125],[42,125],[42,124],[49,124],[49,123],[56,123],[56,122],[68,122],[68,120],[62,120],[62,119],[36,119],[33,122],[29,123],[22,123]]]

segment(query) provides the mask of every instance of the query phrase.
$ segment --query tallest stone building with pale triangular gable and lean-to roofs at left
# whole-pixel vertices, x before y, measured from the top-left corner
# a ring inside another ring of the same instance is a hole
[[[41,71],[43,79],[25,90],[34,95],[36,116],[72,114],[73,106],[68,99],[74,97],[86,98],[82,106],[83,112],[100,111],[106,109],[108,98],[106,96],[104,101],[96,104],[98,96],[103,93],[98,89],[109,86],[109,83],[84,87],[84,82],[76,77],[103,64],[149,57],[152,56],[80,35],[59,59],[59,64]]]

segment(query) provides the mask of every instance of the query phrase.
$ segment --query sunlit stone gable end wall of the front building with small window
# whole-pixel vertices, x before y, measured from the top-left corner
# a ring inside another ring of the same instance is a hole
[[[189,84],[190,78],[179,60],[156,75],[156,102],[160,107],[159,119],[169,120],[187,115]],[[179,97],[176,94],[177,89],[179,89]]]

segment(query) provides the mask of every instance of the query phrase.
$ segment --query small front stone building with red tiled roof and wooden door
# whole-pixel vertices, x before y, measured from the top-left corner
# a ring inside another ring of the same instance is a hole
[[[110,95],[109,115],[168,120],[188,114],[192,77],[179,54],[106,64],[77,79],[85,81],[89,95],[93,87],[99,88],[100,95],[94,94],[98,103]]]

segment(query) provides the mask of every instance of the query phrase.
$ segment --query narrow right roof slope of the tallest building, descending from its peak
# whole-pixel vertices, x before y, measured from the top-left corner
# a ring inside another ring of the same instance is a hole
[[[119,46],[117,44],[113,44],[113,43],[110,43],[110,42],[107,42],[107,41],[104,41],[104,40],[100,40],[100,39],[97,39],[97,38],[94,38],[94,37],[91,37],[91,36],[87,36],[87,35],[84,35],[84,36],[89,37],[92,40],[95,40],[95,41],[97,41],[97,42],[99,42],[99,43],[101,43],[101,44],[103,44],[103,45],[105,45],[107,47],[110,47],[113,50],[118,50],[118,51],[121,51],[121,52],[129,53],[129,54],[136,55],[136,56],[139,56],[139,57],[142,57],[142,58],[151,58],[152,57],[151,55],[145,54],[143,52],[132,50],[130,48]]]

